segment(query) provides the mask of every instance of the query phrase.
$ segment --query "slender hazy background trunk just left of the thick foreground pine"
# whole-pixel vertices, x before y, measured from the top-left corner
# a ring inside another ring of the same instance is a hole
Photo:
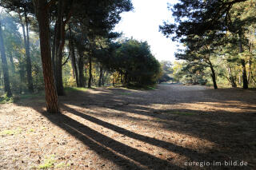
[[[26,22],[26,74],[27,74],[27,83],[30,93],[34,92],[33,77],[32,77],[32,66],[30,58],[30,33],[29,33],[29,24],[27,20],[27,14],[25,10],[25,22]]]

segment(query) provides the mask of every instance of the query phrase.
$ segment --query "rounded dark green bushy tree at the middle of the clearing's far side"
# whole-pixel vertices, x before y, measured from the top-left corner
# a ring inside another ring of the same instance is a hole
[[[112,67],[122,76],[123,84],[150,85],[161,73],[160,63],[146,42],[130,39],[122,42],[112,58]]]

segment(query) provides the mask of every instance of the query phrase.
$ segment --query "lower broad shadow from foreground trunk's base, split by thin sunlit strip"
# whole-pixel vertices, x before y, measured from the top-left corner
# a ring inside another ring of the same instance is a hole
[[[38,110],[42,113],[42,110]],[[64,114],[42,113],[49,121],[64,129],[70,135],[97,152],[99,156],[112,161],[122,169],[183,169],[168,160],[162,160],[136,148],[131,148],[108,136],[82,125]]]

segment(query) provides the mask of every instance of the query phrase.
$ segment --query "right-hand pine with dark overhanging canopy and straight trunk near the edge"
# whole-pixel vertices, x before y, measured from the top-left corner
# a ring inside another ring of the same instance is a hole
[[[172,7],[173,16],[177,23],[168,24],[164,22],[160,26],[160,30],[167,37],[171,36],[174,40],[184,42],[187,36],[198,35],[204,36],[210,31],[215,31],[218,34],[226,34],[226,31],[231,31],[239,35],[238,45],[240,53],[243,52],[242,38],[244,37],[243,26],[251,21],[255,21],[252,16],[246,19],[236,18],[242,13],[234,14],[234,6],[239,2],[249,2],[246,0],[229,0],[229,1],[185,1],[180,0]],[[236,18],[236,19],[232,19]],[[185,41],[186,42],[186,41]],[[246,61],[241,58],[243,75],[243,88],[248,88],[246,79]]]

